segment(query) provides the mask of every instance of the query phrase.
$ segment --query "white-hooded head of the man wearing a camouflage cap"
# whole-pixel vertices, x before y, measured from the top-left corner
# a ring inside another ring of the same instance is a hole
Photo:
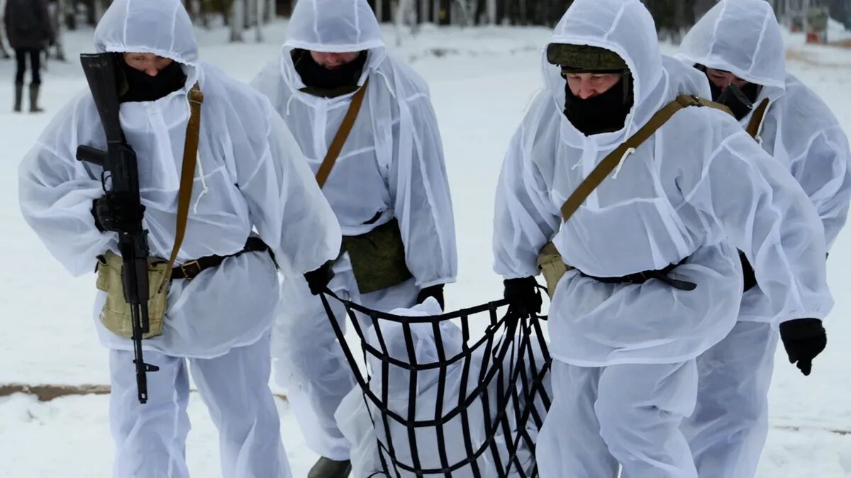
[[[639,0],[576,0],[559,21],[550,43],[594,47],[585,48],[586,52],[596,52],[597,60],[606,60],[607,65],[617,65],[619,70],[621,65],[625,65],[624,71],[629,73],[625,77],[631,84],[622,85],[626,92],[631,91],[623,128],[612,133],[595,134],[593,141],[604,145],[620,142],[625,135],[643,126],[661,106],[664,100],[664,88],[660,88],[663,68],[656,27]],[[577,52],[578,49],[574,49],[574,54]],[[587,58],[586,54],[574,56],[576,58],[570,59],[574,63]],[[563,67],[552,65],[550,60],[554,58],[544,61],[545,77],[561,109],[567,96]],[[587,70],[586,66],[568,65],[583,71]],[[573,123],[569,129],[574,135],[582,134]]]

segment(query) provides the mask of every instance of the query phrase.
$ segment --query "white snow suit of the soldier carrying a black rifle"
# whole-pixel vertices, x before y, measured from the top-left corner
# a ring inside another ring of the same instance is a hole
[[[180,167],[190,109],[187,92],[204,94],[197,177],[186,239],[177,264],[241,251],[252,230],[288,275],[314,270],[340,250],[340,227],[298,145],[269,101],[197,58],[189,15],[179,0],[117,0],[94,33],[99,53],[154,53],[182,65],[186,85],[160,100],[125,102],[121,126],[138,156],[144,227],[151,256],[174,246]],[[106,149],[89,91],[78,94],[20,165],[20,208],[54,257],[72,274],[117,253],[117,234],[100,232],[92,201],[103,196],[100,167],[77,161],[77,145]],[[163,334],[146,339],[149,401],[136,401],[132,343],[97,318],[111,349],[111,424],[115,476],[187,476],[185,439],[188,358],[220,430],[227,478],[290,476],[269,390],[269,333],[279,285],[269,253],[225,259],[168,291]]]

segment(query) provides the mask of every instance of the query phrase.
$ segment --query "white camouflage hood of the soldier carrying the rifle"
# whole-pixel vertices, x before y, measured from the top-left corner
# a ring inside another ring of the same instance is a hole
[[[180,0],[115,0],[94,30],[94,46],[98,53],[152,53],[191,66],[198,61],[192,22]]]

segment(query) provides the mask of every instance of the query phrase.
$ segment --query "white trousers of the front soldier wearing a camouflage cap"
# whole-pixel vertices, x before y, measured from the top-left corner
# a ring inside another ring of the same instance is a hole
[[[553,401],[535,451],[541,478],[695,478],[679,430],[697,395],[694,361],[552,363]],[[722,478],[720,475],[716,478]]]

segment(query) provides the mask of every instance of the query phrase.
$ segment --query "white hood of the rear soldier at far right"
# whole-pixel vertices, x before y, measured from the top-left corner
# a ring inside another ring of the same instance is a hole
[[[690,65],[729,71],[767,88],[785,88],[785,45],[774,9],[765,0],[722,0],[698,21],[680,44],[677,58]]]

